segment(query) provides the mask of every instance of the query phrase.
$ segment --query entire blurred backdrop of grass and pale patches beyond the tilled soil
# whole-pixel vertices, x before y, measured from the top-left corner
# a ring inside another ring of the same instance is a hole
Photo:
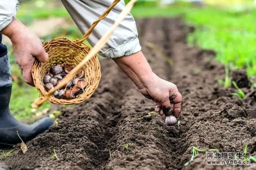
[[[246,68],[253,79],[256,76],[255,7],[253,0],[138,0],[131,13],[135,18],[181,16],[187,24],[196,27],[188,37],[188,45],[215,50],[218,62],[230,69]],[[17,18],[45,41],[55,37],[82,37],[59,0],[20,0]],[[12,68],[12,113],[19,120],[46,113],[51,107],[49,102],[38,110],[31,109],[38,91],[23,82],[11,42],[4,37],[4,43],[9,47]]]

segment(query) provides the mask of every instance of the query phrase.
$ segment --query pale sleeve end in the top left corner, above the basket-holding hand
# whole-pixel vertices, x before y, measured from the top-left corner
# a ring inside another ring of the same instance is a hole
[[[17,0],[0,0],[0,31],[12,22],[18,8]]]

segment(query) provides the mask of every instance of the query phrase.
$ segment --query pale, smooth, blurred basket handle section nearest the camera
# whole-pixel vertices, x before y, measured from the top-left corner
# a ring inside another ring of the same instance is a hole
[[[103,36],[101,37],[101,39],[94,45],[94,47],[89,51],[89,53],[87,54],[87,57],[85,57],[78,65],[76,65],[75,68],[73,68],[69,74],[66,75],[66,77],[64,77],[64,79],[62,79],[62,81],[56,85],[52,90],[50,90],[47,95],[45,96],[41,96],[38,99],[35,99],[35,101],[32,103],[32,108],[38,108],[40,105],[42,105],[45,101],[47,101],[47,99],[49,99],[49,97],[54,93],[54,91],[56,91],[58,88],[61,88],[62,86],[66,85],[68,81],[70,81],[76,74],[77,72],[80,70],[80,68],[82,68],[87,61],[89,61],[92,57],[94,57],[99,50],[107,43],[107,41],[109,40],[111,34],[113,34],[113,31],[117,28],[117,26],[119,26],[119,24],[122,22],[122,20],[125,19],[126,15],[131,11],[131,8],[134,6],[134,3],[137,0],[130,0],[130,2],[125,6],[125,8],[122,10],[121,14],[119,14],[119,17],[117,18],[117,20],[115,21],[115,23],[113,24],[113,26],[109,29],[109,31]]]

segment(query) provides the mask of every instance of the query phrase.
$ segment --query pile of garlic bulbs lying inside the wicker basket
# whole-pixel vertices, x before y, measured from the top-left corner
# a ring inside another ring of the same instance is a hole
[[[55,65],[49,69],[43,78],[44,89],[48,92],[61,82],[61,79],[73,69],[69,65]],[[79,70],[73,79],[67,82],[62,88],[53,92],[57,99],[73,99],[85,91],[87,83],[84,81],[84,70]]]

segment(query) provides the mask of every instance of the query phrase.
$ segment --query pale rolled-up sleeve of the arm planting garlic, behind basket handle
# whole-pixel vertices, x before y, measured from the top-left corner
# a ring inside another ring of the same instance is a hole
[[[84,34],[95,20],[113,3],[113,0],[61,0],[73,21]],[[111,12],[93,29],[87,41],[94,46],[113,26],[119,14],[125,8],[120,0]],[[99,51],[103,57],[118,58],[137,53],[141,50],[134,17],[128,14],[115,29],[110,39]]]

